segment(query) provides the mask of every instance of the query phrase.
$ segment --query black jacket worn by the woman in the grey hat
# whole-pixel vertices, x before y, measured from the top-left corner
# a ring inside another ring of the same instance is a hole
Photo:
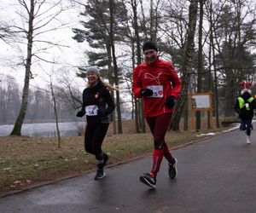
[[[114,108],[113,97],[101,82],[84,89],[81,112],[86,115],[87,124],[90,124],[90,120],[95,122],[96,119],[102,123],[109,123],[108,115]]]

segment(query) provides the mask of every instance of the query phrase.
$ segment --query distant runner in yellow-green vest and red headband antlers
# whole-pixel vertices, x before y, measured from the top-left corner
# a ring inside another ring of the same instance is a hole
[[[256,108],[256,100],[251,95],[250,82],[241,82],[239,84],[242,87],[241,95],[236,99],[234,109],[240,118],[240,130],[246,130],[247,144],[250,144],[251,130],[253,130],[253,109]]]

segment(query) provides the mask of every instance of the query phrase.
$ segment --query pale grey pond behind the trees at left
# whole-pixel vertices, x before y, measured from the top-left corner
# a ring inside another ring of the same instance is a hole
[[[85,122],[63,122],[59,123],[61,136],[78,136],[81,128],[85,126]],[[0,136],[6,136],[11,133],[14,124],[0,125]],[[38,123],[38,124],[23,124],[21,135],[27,136],[43,136],[55,137],[57,136],[55,123]]]

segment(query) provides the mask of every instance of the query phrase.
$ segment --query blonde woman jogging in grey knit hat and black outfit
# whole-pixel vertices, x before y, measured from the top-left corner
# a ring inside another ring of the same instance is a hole
[[[100,180],[106,173],[103,168],[107,164],[109,153],[102,151],[102,142],[107,134],[109,118],[115,105],[109,90],[113,86],[102,81],[97,66],[90,66],[86,72],[88,87],[83,91],[83,104],[77,117],[86,115],[86,128],[84,133],[84,147],[87,153],[93,154],[97,161],[95,180]]]

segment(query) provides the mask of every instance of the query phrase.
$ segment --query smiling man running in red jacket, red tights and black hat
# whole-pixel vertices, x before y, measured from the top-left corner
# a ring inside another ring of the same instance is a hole
[[[154,136],[152,170],[143,174],[140,181],[154,188],[163,157],[169,163],[170,178],[177,175],[177,159],[169,152],[165,135],[182,83],[172,63],[159,59],[153,42],[143,43],[143,54],[145,62],[133,71],[132,92],[136,98],[143,98],[144,116]]]

